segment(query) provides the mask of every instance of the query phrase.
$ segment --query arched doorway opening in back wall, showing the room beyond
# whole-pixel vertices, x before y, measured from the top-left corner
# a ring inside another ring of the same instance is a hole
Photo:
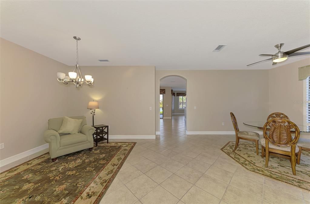
[[[159,80],[159,133],[161,136],[186,134],[187,79],[178,75]],[[157,102],[157,101],[156,101]],[[158,119],[158,118],[157,118]]]

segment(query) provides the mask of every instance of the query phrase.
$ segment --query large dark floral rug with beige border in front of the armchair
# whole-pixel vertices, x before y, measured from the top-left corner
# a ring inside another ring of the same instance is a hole
[[[55,162],[43,154],[0,174],[0,203],[99,203],[134,146],[102,143]]]

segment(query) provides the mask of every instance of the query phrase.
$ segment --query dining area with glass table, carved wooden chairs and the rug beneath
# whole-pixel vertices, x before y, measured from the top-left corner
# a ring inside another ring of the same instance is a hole
[[[236,116],[230,112],[236,141],[221,150],[247,170],[302,189],[310,190],[310,141],[300,133],[309,126],[295,124],[289,116],[273,112],[265,121],[244,121],[258,131],[239,130]]]

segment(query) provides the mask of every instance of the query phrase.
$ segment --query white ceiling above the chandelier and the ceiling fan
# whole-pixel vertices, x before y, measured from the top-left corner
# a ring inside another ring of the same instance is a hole
[[[80,65],[156,69],[270,69],[273,46],[310,44],[309,1],[1,1],[1,37]],[[218,44],[228,44],[212,52]],[[309,51],[305,49],[302,51]],[[99,62],[97,59],[109,59]]]

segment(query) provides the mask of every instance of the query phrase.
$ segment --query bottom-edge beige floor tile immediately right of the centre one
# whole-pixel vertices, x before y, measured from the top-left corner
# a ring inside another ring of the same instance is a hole
[[[182,197],[181,201],[185,204],[198,204],[198,203],[219,203],[220,199],[207,193],[206,191],[193,186],[189,191]]]

